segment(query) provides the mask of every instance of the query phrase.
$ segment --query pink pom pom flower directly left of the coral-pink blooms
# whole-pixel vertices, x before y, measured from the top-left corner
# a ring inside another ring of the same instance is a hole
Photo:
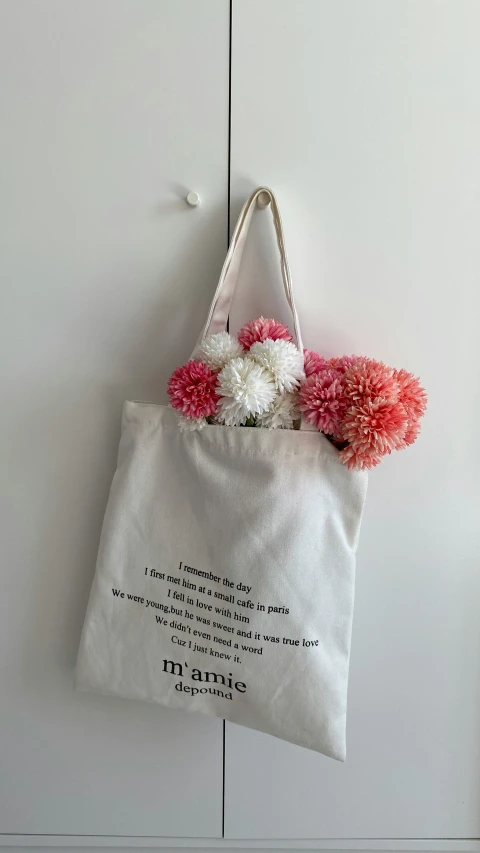
[[[327,435],[337,435],[347,407],[343,383],[335,370],[309,376],[300,388],[299,409],[306,420]]]

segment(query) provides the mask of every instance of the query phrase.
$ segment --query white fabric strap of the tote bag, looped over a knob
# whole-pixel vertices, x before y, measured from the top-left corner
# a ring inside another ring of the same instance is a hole
[[[230,313],[233,294],[235,293],[235,287],[237,284],[238,272],[240,269],[242,254],[245,247],[245,241],[247,239],[248,229],[260,193],[266,193],[270,197],[269,207],[272,210],[273,222],[277,235],[277,243],[280,251],[280,264],[282,270],[283,286],[285,289],[285,296],[287,298],[287,302],[292,313],[293,331],[296,344],[300,352],[303,351],[300,324],[298,320],[297,309],[295,306],[295,300],[293,298],[292,278],[290,275],[290,267],[288,265],[288,258],[285,249],[285,238],[283,234],[282,220],[280,217],[280,211],[278,209],[277,200],[272,190],[268,187],[257,187],[257,189],[253,191],[253,193],[250,195],[250,197],[247,199],[243,206],[242,212],[235,226],[235,231],[233,232],[233,237],[230,242],[227,257],[225,258],[225,263],[223,265],[223,269],[220,275],[218,287],[215,292],[215,296],[213,297],[212,304],[210,306],[207,321],[205,323],[205,326],[203,327],[202,333],[200,335],[200,338],[198,339],[195,349],[199,346],[199,344],[207,335],[213,335],[216,332],[222,332],[227,327],[228,315]]]

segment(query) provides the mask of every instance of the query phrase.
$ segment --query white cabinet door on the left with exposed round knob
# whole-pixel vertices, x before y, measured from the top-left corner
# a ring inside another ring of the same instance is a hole
[[[221,720],[72,671],[122,403],[165,400],[225,253],[228,4],[0,18],[0,832],[218,836]]]

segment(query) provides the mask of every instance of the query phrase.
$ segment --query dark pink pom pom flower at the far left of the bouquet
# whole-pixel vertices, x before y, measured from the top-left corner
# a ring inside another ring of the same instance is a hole
[[[173,371],[168,396],[174,409],[187,418],[208,418],[218,405],[217,374],[203,361],[187,361]]]

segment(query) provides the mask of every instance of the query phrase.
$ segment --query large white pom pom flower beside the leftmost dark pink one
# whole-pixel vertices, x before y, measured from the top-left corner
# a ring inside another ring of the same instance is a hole
[[[218,374],[220,397],[217,420],[242,426],[249,417],[263,414],[276,396],[272,374],[250,358],[234,358]]]

